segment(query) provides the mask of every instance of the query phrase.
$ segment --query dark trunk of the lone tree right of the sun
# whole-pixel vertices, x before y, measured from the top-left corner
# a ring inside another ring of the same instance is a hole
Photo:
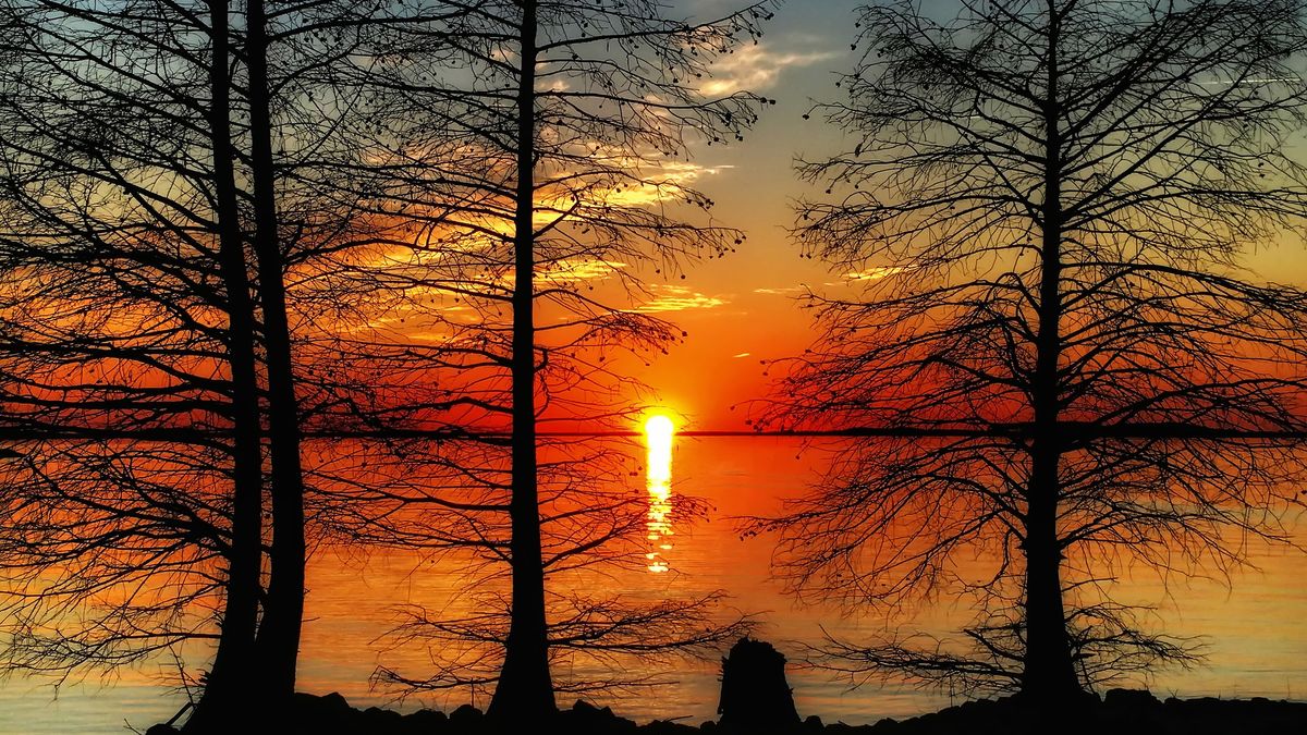
[[[1021,692],[1040,702],[1064,701],[1081,693],[1070,658],[1067,615],[1063,607],[1061,543],[1057,535],[1057,468],[1064,449],[1059,437],[1061,357],[1061,131],[1059,128],[1057,9],[1050,3],[1048,90],[1044,102],[1044,201],[1040,213],[1039,333],[1031,386],[1035,438],[1030,447],[1030,484],[1026,489],[1026,651]]]

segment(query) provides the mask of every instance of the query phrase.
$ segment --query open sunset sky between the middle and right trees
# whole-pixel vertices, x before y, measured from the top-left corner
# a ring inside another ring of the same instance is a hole
[[[693,0],[689,13],[707,18],[737,3]],[[767,378],[759,360],[801,352],[812,340],[810,313],[796,296],[804,286],[839,288],[842,273],[801,259],[787,228],[793,201],[810,187],[796,180],[795,158],[830,154],[838,131],[802,115],[814,101],[834,101],[835,72],[855,60],[852,0],[791,1],[780,7],[758,46],[745,47],[715,67],[706,92],[749,89],[776,105],[744,143],[698,146],[695,186],[716,201],[723,225],[748,233],[738,251],[693,265],[686,279],[654,281],[664,316],[689,332],[685,344],[659,356],[643,379],[665,405],[685,415],[691,429],[745,429],[745,407],[762,398]]]

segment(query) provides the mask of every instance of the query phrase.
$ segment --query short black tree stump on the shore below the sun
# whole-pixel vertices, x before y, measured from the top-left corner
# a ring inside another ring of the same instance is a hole
[[[720,726],[737,732],[784,732],[799,727],[795,696],[786,681],[786,657],[749,637],[721,659]]]

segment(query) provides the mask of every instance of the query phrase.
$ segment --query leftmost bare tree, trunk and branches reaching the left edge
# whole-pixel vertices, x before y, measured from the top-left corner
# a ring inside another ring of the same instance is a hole
[[[135,660],[209,637],[222,599],[229,713],[252,691],[263,492],[230,78],[170,46],[193,17],[140,9],[5,7],[5,419],[31,439],[4,498],[8,663]]]

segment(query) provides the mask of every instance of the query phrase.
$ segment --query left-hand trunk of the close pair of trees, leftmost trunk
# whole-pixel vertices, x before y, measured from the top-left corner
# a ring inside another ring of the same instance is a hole
[[[227,296],[227,361],[231,370],[233,514],[226,599],[218,649],[188,732],[226,732],[250,711],[259,617],[263,535],[263,451],[255,362],[255,315],[240,234],[230,122],[230,29],[226,0],[210,0],[213,59],[209,68],[209,136],[217,200],[218,256]]]

